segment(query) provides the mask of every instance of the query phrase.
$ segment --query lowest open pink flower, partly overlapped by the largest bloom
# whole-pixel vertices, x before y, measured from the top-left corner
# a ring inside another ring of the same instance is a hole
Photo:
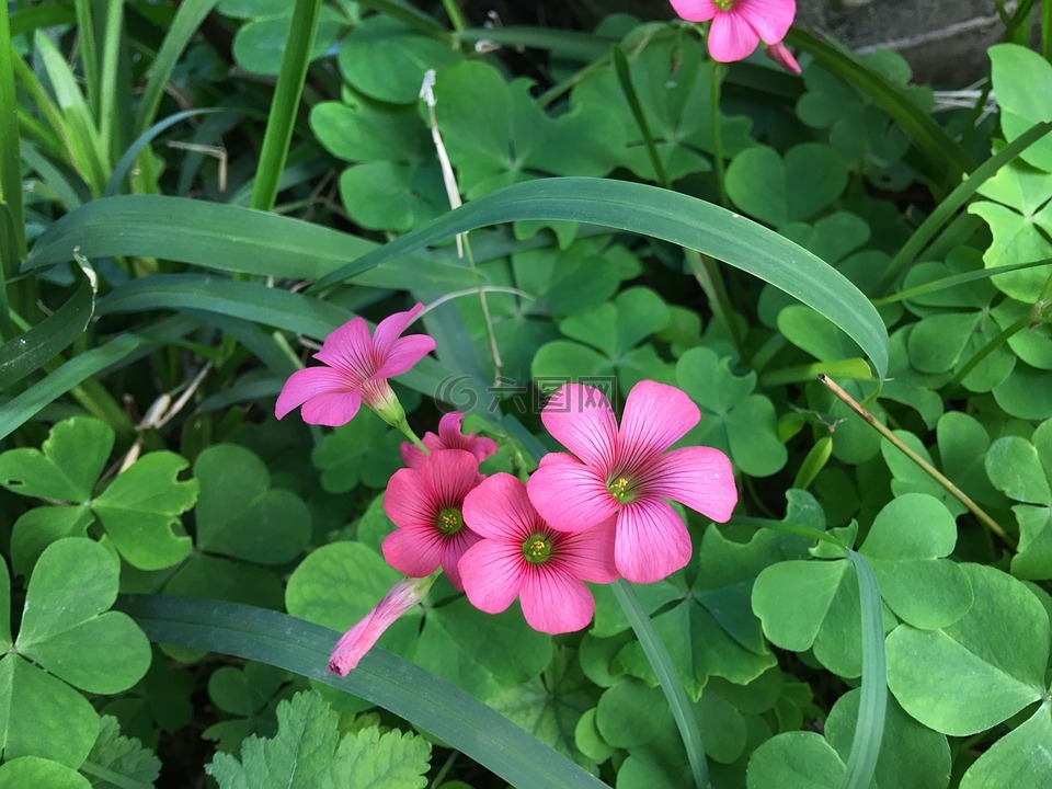
[[[518,597],[535,630],[580,630],[595,613],[583,581],[617,578],[613,521],[575,534],[557,531],[511,474],[494,474],[468,493],[464,517],[482,539],[460,559],[460,578],[471,605],[488,614],[500,614]]]

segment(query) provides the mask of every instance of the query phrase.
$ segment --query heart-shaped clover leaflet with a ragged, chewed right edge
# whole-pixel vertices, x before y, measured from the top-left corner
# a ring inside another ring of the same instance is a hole
[[[190,537],[174,534],[180,514],[197,501],[197,481],[179,481],[190,464],[169,451],[144,455],[92,502],[91,508],[129,564],[161,570],[182,561]]]

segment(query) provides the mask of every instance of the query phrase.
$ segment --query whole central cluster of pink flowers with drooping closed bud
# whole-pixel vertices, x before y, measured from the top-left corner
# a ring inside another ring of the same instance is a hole
[[[348,422],[365,402],[414,438],[384,494],[397,526],[384,558],[408,578],[336,643],[329,668],[341,676],[423,599],[439,570],[480,610],[498,614],[517,598],[536,630],[580,630],[595,611],[585,581],[652,583],[690,560],[686,525],[667,500],[720,523],[737,503],[723,453],[671,449],[701,414],[684,392],[651,380],[629,392],[620,425],[598,389],[560,388],[541,421],[572,454],[546,455],[526,483],[479,471],[498,447],[465,434],[462,414],[446,414],[438,435],[416,441],[387,378],[434,348],[426,335],[399,339],[421,310],[391,316],[373,338],[361,318],[341,327],[316,354],[327,367],[294,374],[277,400],[278,419],[302,404],[305,421],[325,425]]]

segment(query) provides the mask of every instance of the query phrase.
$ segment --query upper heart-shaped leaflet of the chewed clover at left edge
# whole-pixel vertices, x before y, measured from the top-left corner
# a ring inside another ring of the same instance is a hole
[[[0,455],[0,485],[35,499],[85,504],[113,449],[105,422],[75,416],[57,423],[37,449]]]

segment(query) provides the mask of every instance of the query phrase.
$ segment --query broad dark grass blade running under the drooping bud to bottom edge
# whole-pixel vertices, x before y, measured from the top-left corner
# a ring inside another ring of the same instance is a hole
[[[341,679],[327,671],[339,633],[287,614],[184,597],[122,597],[151,641],[278,666],[367,699],[434,734],[518,789],[604,789],[595,776],[459,688],[370,650]]]

